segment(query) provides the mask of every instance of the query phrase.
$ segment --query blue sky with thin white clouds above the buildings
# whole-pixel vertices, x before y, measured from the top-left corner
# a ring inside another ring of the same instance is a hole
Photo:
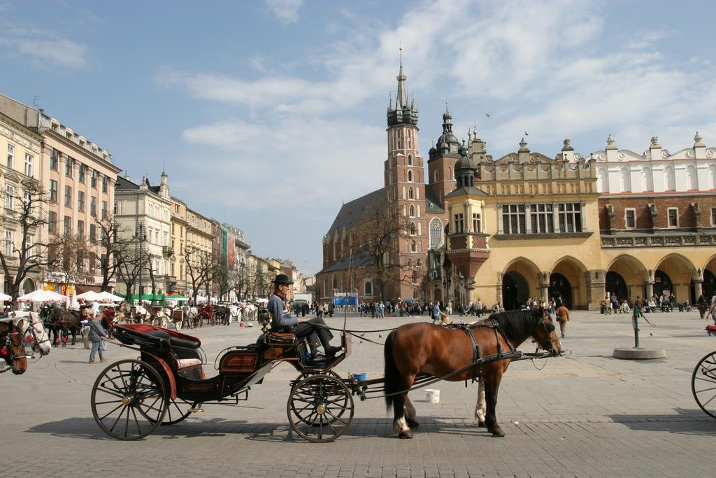
[[[132,179],[321,269],[342,203],[382,186],[398,45],[427,158],[448,102],[495,158],[651,136],[716,144],[713,1],[2,1],[0,92]],[[490,117],[486,115],[490,114]]]

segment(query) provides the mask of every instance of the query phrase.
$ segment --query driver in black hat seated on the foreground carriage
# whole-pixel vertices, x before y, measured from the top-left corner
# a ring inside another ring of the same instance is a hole
[[[274,279],[274,293],[269,297],[269,305],[267,308],[274,319],[271,321],[271,329],[276,332],[293,332],[298,338],[310,337],[317,335],[321,345],[326,351],[327,358],[334,358],[341,348],[333,347],[329,340],[333,337],[331,331],[325,328],[326,322],[321,317],[306,319],[306,317],[293,317],[291,312],[286,309],[286,295],[289,292],[289,286],[294,281],[289,279],[286,274],[279,274]],[[309,338],[311,346],[311,355],[316,355],[316,340]]]

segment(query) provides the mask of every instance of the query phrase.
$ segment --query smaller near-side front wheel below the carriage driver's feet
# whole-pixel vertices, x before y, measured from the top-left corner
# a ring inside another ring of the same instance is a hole
[[[353,397],[342,381],[314,375],[296,383],[286,411],[291,428],[301,438],[323,443],[344,434],[353,419],[353,408]]]

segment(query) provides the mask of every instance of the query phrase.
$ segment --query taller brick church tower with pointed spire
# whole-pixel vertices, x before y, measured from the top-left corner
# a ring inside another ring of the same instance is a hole
[[[421,297],[420,280],[425,274],[425,253],[428,249],[427,211],[425,210],[425,166],[420,156],[415,98],[409,98],[403,73],[402,48],[398,89],[395,103],[392,95],[387,110],[388,156],[384,162],[384,184],[387,204],[399,211],[410,223],[407,235],[396,238],[402,270],[395,290],[396,297]],[[406,279],[407,277],[407,279]]]

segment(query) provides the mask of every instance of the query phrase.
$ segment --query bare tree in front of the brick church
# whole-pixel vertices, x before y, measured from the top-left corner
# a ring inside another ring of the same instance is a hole
[[[400,238],[410,232],[410,223],[395,206],[380,201],[367,206],[358,224],[353,255],[366,259],[364,268],[372,275],[377,287],[378,300],[385,300],[404,278],[406,264],[400,264]]]

